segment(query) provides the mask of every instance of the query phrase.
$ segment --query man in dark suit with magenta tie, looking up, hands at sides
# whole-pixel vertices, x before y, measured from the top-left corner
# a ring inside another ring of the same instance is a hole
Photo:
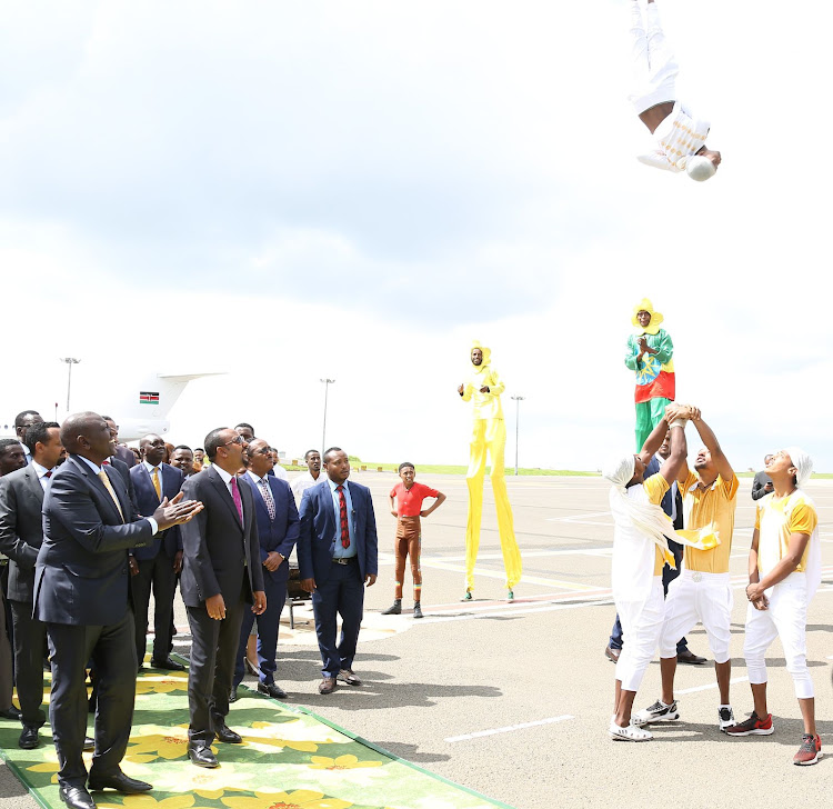
[[[191,626],[188,676],[188,755],[198,767],[217,767],[211,742],[242,741],[225,725],[240,623],[247,603],[255,616],[267,608],[252,492],[237,472],[245,439],[228,427],[205,437],[211,466],[185,480],[182,491],[204,510],[182,527],[182,600]]]

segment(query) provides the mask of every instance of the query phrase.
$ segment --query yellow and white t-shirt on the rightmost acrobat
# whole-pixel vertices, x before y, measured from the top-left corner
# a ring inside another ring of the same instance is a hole
[[[755,510],[759,571],[765,576],[786,556],[793,533],[811,535],[817,525],[819,515],[801,489],[779,500],[774,492],[762,497]],[[810,542],[804,548],[796,572],[804,572],[809,550]]]

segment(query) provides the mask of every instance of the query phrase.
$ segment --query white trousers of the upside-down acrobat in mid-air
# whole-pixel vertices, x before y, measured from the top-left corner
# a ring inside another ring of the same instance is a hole
[[[656,3],[648,3],[644,18],[638,0],[631,0],[631,7],[633,79],[628,100],[639,116],[664,101],[676,101],[680,66],[663,33]]]

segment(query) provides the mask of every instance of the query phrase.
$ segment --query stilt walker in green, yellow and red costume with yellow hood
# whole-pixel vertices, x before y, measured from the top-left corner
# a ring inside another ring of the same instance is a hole
[[[662,420],[665,408],[674,400],[674,343],[669,332],[660,328],[663,320],[648,298],[633,308],[631,322],[636,327],[636,332],[628,338],[625,366],[636,374],[638,452],[651,430]]]

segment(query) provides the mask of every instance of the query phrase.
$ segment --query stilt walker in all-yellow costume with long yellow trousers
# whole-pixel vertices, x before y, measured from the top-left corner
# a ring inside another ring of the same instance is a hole
[[[465,528],[465,598],[474,590],[474,563],[480,547],[480,520],[483,513],[483,480],[486,453],[491,460],[492,490],[498,510],[498,532],[506,570],[506,589],[510,599],[513,588],[521,580],[521,551],[515,540],[512,507],[509,503],[506,481],[503,472],[503,451],[506,446],[506,423],[503,420],[501,393],[505,386],[491,368],[491,350],[475,342],[471,351],[471,372],[458,392],[463,401],[472,401],[474,423],[472,426],[469,471],[469,521]]]

